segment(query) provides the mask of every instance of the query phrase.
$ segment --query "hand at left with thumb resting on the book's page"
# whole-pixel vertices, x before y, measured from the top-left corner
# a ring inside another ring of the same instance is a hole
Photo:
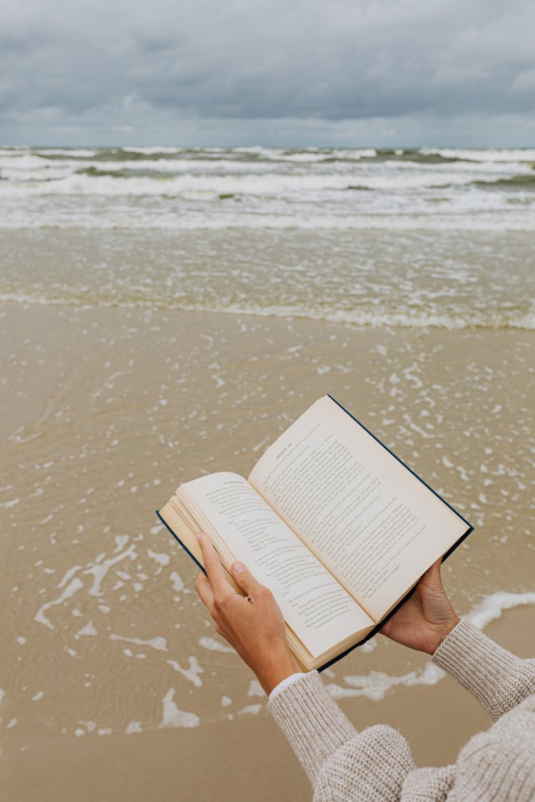
[[[231,566],[241,596],[225,577],[216,549],[202,532],[197,533],[208,577],[200,573],[195,589],[208,607],[216,632],[225,638],[257,675],[266,694],[300,670],[286,641],[286,628],[273,594],[261,585],[241,562]]]

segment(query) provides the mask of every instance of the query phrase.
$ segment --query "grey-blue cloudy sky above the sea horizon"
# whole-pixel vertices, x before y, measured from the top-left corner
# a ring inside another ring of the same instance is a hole
[[[0,144],[535,144],[533,0],[0,5]]]

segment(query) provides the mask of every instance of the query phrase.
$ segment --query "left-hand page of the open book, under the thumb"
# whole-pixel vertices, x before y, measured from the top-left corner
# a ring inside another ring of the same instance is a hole
[[[233,557],[270,588],[314,657],[373,622],[248,482],[215,473],[180,486]]]

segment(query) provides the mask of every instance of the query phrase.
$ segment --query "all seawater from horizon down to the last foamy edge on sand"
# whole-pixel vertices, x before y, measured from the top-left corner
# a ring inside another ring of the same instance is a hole
[[[17,743],[264,715],[153,510],[202,472],[249,472],[326,391],[476,526],[444,568],[460,612],[533,605],[533,161],[0,149]],[[440,682],[381,640],[324,675],[335,698]]]

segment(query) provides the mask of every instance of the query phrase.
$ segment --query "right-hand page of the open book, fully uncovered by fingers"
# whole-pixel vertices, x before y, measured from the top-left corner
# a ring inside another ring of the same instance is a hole
[[[328,396],[249,483],[379,621],[467,525]]]

